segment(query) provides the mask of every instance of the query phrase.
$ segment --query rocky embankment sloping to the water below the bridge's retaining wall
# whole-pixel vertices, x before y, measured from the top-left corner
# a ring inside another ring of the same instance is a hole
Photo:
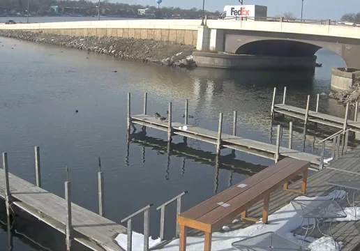
[[[134,38],[59,36],[43,32],[8,30],[0,30],[0,36],[109,54],[121,59],[160,63],[166,66],[186,68],[196,66],[192,56],[195,47],[173,42]]]

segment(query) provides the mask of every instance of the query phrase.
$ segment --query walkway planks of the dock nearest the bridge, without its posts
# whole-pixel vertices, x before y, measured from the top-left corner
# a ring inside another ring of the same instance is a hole
[[[274,105],[274,112],[284,114],[287,116],[292,116],[297,119],[305,120],[306,109],[299,107],[293,107],[291,105]],[[308,111],[308,121],[315,123],[322,123],[327,126],[335,128],[343,128],[345,119],[341,119],[337,116],[331,116],[328,114],[322,114],[320,112]],[[360,122],[347,120],[347,128],[353,132],[360,132]]]

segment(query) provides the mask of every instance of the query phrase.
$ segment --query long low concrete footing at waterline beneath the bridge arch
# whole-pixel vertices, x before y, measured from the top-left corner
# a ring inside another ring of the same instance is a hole
[[[252,56],[193,52],[197,66],[233,69],[315,68],[316,56]]]

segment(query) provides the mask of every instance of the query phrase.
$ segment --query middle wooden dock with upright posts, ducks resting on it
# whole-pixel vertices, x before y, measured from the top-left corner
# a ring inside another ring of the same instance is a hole
[[[218,131],[208,130],[197,126],[191,126],[187,123],[187,107],[186,100],[185,121],[184,123],[174,122],[172,116],[172,103],[170,102],[167,119],[160,120],[156,116],[147,115],[147,93],[144,98],[144,114],[131,115],[130,114],[130,93],[128,93],[128,132],[130,126],[135,128],[135,124],[142,126],[142,128],[153,128],[167,132],[167,139],[171,142],[172,136],[179,135],[186,138],[197,139],[202,142],[214,144],[216,146],[216,153],[220,153],[220,149],[228,148],[253,155],[258,155],[263,158],[269,158],[276,162],[283,157],[290,157],[298,160],[308,160],[311,162],[312,169],[322,169],[326,164],[323,162],[323,156],[317,156],[310,153],[304,153],[294,149],[280,146],[280,126],[278,126],[278,135],[276,145],[264,142],[258,142],[253,139],[246,139],[236,135],[237,127],[237,112],[234,112],[234,126],[232,135],[222,132],[223,114],[219,116]],[[163,118],[165,119],[165,118]]]

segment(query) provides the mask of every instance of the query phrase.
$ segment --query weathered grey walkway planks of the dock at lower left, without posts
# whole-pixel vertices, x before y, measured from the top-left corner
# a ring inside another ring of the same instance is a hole
[[[0,172],[0,197],[4,197],[4,176],[4,173]],[[9,183],[15,206],[65,234],[67,215],[65,199],[13,174],[9,174]],[[125,234],[125,227],[76,204],[72,203],[71,207],[76,241],[92,250],[123,250],[114,238],[118,234]]]

